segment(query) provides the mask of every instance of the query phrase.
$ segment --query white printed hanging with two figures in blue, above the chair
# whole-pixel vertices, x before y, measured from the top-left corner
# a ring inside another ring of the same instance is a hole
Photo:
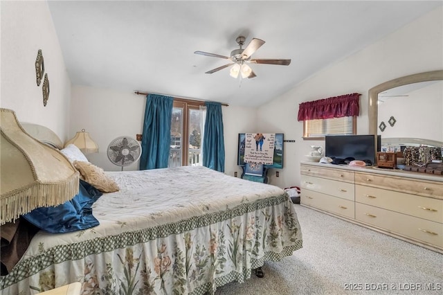
[[[272,165],[275,133],[246,133],[244,162]]]

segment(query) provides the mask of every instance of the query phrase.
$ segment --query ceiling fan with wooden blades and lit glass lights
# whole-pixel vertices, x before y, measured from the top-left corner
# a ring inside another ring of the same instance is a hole
[[[255,51],[257,51],[257,49],[264,44],[264,41],[262,39],[253,38],[251,42],[249,42],[249,44],[246,46],[246,48],[243,49],[242,46],[244,45],[245,40],[246,38],[243,36],[239,36],[237,37],[237,39],[235,39],[235,42],[237,42],[240,48],[231,51],[230,56],[224,56],[215,53],[207,53],[204,51],[195,51],[194,53],[199,55],[219,57],[223,58],[224,60],[230,60],[230,63],[225,64],[224,66],[219,66],[218,68],[207,71],[206,73],[215,73],[232,65],[232,67],[230,68],[230,75],[233,78],[237,78],[239,74],[241,74],[242,78],[254,78],[256,76],[255,73],[252,71],[251,67],[248,66],[247,63],[278,64],[280,66],[287,66],[291,63],[291,60],[283,60],[283,59],[251,60],[251,55],[253,55],[253,53],[255,53]]]

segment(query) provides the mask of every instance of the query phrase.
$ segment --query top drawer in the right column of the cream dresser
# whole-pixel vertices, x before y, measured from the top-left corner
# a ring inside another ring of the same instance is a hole
[[[355,172],[355,184],[443,199],[443,182]]]

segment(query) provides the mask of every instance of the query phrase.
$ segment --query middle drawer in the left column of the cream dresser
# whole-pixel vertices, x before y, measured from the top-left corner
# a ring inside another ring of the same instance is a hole
[[[308,190],[354,201],[354,184],[302,175],[300,185]]]

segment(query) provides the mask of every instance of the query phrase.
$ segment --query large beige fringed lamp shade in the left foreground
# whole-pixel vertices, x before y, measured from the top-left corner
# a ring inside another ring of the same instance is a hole
[[[78,194],[79,173],[64,155],[28,135],[15,112],[0,109],[0,225]]]

